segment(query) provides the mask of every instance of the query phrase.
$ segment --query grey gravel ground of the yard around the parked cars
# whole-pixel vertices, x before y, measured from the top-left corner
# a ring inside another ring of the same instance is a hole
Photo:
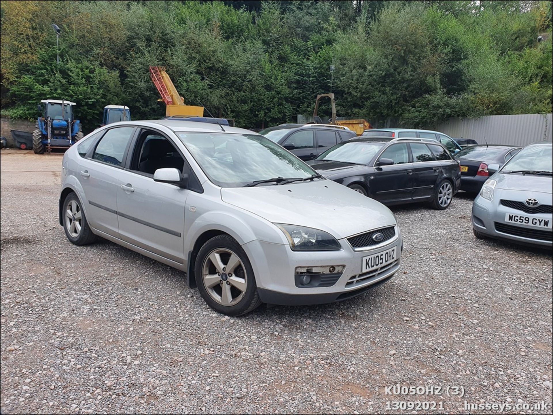
[[[1,154],[2,413],[384,413],[407,401],[446,413],[544,401],[525,412],[551,413],[551,253],[475,239],[468,196],[445,212],[394,208],[405,250],[389,283],[228,318],[179,271],[107,241],[70,244],[60,161]],[[397,384],[444,389],[385,394]]]

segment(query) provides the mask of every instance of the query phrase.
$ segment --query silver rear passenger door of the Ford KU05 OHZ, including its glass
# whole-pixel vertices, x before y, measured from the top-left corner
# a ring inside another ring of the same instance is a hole
[[[86,197],[83,202],[86,203],[87,220],[93,228],[114,237],[119,237],[118,177],[123,172],[134,131],[134,127],[108,129],[88,151],[87,157],[79,160],[77,178]]]

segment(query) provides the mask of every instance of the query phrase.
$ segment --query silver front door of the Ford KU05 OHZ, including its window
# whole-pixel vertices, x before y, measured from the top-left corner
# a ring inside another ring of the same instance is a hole
[[[184,159],[164,135],[142,130],[130,169],[119,175],[117,210],[121,239],[170,260],[184,262],[185,203],[189,190],[154,182],[154,172]]]

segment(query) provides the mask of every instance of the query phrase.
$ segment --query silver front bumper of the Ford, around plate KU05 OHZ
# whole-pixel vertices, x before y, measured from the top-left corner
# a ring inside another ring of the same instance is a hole
[[[398,229],[398,228],[397,228]],[[292,251],[289,245],[259,240],[242,245],[250,259],[258,287],[259,298],[269,304],[306,305],[346,300],[390,280],[401,264],[403,238],[397,237],[374,249],[353,250],[345,239],[338,251]],[[396,248],[395,260],[378,269],[361,272],[364,256]],[[296,267],[344,265],[342,275],[331,286],[296,286]]]

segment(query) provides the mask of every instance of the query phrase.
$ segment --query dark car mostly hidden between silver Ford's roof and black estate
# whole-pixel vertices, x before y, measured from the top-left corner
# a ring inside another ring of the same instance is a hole
[[[279,125],[279,128],[269,127],[259,134],[280,144],[301,160],[312,160],[319,154],[335,146],[336,143],[347,141],[357,134],[339,125],[306,124],[290,128]]]

